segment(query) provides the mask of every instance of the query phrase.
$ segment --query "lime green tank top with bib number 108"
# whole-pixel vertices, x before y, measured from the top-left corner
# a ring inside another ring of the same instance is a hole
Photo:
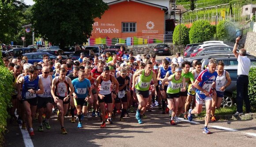
[[[139,75],[138,83],[135,85],[135,88],[140,91],[149,90],[149,85],[152,80],[153,71],[151,71],[150,75],[145,76],[145,70],[142,71],[142,74]]]

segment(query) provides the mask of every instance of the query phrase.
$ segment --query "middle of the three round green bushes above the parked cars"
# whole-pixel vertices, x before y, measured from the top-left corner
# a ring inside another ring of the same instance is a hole
[[[204,20],[194,22],[189,31],[190,43],[202,43],[213,38],[213,28],[211,24]]]

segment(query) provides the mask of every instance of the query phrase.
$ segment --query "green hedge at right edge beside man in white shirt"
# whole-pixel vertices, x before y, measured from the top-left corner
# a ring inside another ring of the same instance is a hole
[[[251,107],[256,108],[256,68],[251,68],[249,72],[248,95],[251,101]]]

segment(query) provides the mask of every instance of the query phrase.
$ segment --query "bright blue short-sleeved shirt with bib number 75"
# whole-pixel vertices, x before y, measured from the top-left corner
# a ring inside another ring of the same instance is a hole
[[[72,80],[72,85],[75,89],[75,94],[77,98],[85,99],[88,95],[88,90],[90,88],[90,81],[88,79],[84,79],[82,82],[79,81],[78,78]]]

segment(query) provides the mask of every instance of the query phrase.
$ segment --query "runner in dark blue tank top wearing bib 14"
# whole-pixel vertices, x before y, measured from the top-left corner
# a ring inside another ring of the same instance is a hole
[[[29,127],[29,135],[34,136],[32,128],[32,118],[37,109],[38,97],[37,94],[44,93],[42,80],[38,77],[38,68],[35,66],[30,67],[30,75],[19,78],[17,81],[18,99],[22,100],[23,108],[26,113],[26,122]],[[22,93],[20,90],[22,85]]]

